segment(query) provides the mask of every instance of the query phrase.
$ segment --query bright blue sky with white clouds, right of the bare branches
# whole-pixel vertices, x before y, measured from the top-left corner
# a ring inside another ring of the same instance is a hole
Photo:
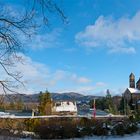
[[[3,1],[23,7],[18,0]],[[50,16],[26,42],[25,65],[19,64],[28,93],[75,91],[121,94],[128,76],[140,77],[139,0],[58,0],[69,23]]]

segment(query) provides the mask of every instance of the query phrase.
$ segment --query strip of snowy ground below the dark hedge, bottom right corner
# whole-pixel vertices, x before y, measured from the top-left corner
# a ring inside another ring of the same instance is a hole
[[[125,135],[121,136],[92,136],[92,137],[84,137],[84,138],[75,138],[74,140],[140,140],[140,134],[133,135]]]

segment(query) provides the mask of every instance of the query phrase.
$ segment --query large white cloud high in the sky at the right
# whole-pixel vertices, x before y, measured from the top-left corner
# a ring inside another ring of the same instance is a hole
[[[93,25],[76,34],[75,40],[88,49],[107,47],[110,53],[135,53],[135,42],[140,41],[140,12],[133,17],[113,20],[100,16]]]

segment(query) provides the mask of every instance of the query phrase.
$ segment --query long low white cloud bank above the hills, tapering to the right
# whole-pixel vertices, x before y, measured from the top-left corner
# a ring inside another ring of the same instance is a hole
[[[30,57],[22,56],[23,62],[17,62],[10,71],[20,71],[23,75],[22,81],[25,87],[19,86],[15,90],[19,93],[37,93],[46,88],[51,92],[79,92],[83,94],[96,94],[96,90],[102,90],[106,87],[104,82],[96,82],[85,76],[79,76],[76,73],[62,69],[51,70],[45,64],[33,61]],[[1,78],[7,77],[6,73],[0,69]],[[1,91],[1,88],[0,88]]]

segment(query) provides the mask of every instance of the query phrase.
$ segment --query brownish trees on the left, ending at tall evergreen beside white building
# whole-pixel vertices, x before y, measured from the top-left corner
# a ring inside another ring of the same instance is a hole
[[[38,115],[50,115],[52,104],[51,94],[46,90],[45,92],[40,92],[38,103],[23,102],[21,98],[11,99],[1,104],[0,110],[35,110]]]

